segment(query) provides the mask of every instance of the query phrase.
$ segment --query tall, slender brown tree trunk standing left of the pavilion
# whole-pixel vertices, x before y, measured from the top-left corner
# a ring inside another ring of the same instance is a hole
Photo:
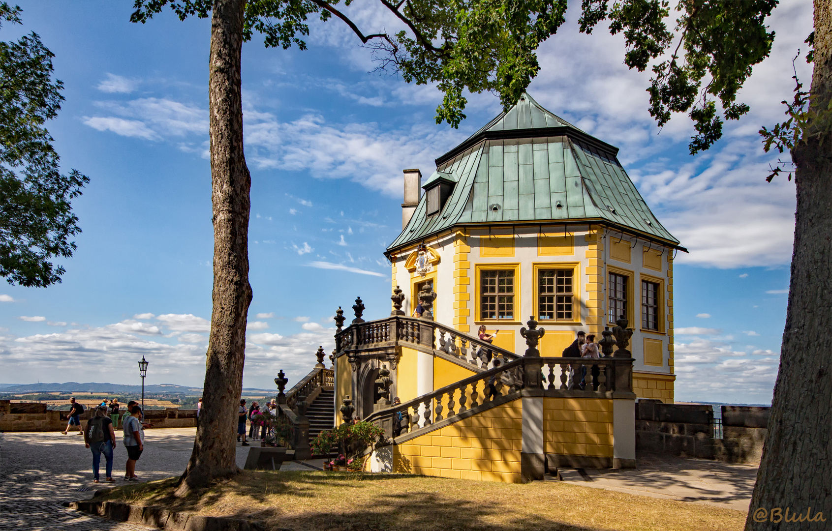
[[[251,177],[243,154],[240,52],[245,2],[215,0],[211,17],[210,169],[214,290],[200,425],[181,492],[235,474],[245,319],[251,302],[248,229]]]

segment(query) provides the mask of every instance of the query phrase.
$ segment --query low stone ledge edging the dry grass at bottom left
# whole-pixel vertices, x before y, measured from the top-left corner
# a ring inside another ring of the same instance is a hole
[[[266,529],[262,522],[181,513],[161,507],[142,507],[141,505],[121,502],[86,500],[64,502],[63,506],[116,520],[117,522],[148,525],[157,529],[177,529],[181,531],[265,531]],[[292,530],[278,529],[277,531]]]

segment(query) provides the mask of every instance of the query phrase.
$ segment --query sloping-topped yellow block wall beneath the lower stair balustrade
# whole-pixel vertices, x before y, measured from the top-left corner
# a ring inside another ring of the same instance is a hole
[[[521,450],[518,398],[396,445],[394,471],[520,483]]]

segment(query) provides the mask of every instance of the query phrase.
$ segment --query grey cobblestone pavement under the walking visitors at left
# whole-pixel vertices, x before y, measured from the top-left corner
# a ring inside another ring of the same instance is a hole
[[[145,451],[136,465],[142,480],[181,474],[191,457],[196,428],[146,430]],[[116,435],[119,435],[116,433]],[[237,465],[245,465],[247,448],[237,446]],[[112,477],[125,484],[127,452],[121,440],[113,459]],[[92,452],[74,433],[0,434],[0,530],[2,531],[148,531],[82,514],[62,506],[65,501],[92,498],[95,489],[112,484],[92,483]]]

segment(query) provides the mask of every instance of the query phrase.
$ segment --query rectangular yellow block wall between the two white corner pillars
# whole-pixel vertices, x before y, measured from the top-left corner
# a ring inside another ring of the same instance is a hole
[[[612,457],[612,399],[544,398],[547,454]]]

